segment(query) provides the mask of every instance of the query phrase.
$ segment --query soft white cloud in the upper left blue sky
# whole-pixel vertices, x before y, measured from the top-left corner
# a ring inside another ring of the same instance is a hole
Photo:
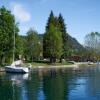
[[[30,19],[31,19],[30,13],[28,11],[26,11],[21,4],[12,3],[11,4],[11,10],[12,10],[12,13],[15,15],[15,17],[19,21],[21,21],[21,22],[30,21]]]

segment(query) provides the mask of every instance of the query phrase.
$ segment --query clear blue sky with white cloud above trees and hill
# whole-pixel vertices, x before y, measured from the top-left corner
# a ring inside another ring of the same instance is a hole
[[[30,28],[45,32],[51,10],[63,15],[67,32],[84,44],[86,34],[100,32],[100,0],[0,0],[19,22],[19,34],[26,35]]]

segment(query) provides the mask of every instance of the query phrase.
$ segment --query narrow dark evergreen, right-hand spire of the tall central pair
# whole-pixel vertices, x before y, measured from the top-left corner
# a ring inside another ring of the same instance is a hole
[[[67,51],[68,51],[68,45],[67,45],[68,35],[66,32],[66,25],[64,22],[64,18],[61,14],[59,14],[58,21],[59,21],[59,25],[60,25],[59,27],[62,33],[62,41],[63,41],[63,55],[62,56],[65,58],[67,55]]]

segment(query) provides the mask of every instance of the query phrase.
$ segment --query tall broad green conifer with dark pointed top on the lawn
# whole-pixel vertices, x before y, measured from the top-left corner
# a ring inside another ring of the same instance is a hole
[[[59,29],[58,18],[51,11],[43,37],[43,56],[50,58],[50,62],[56,62],[62,55],[62,34]]]

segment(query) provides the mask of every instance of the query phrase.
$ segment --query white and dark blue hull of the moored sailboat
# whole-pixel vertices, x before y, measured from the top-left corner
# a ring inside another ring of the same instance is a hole
[[[28,73],[29,68],[27,67],[11,67],[11,66],[6,66],[5,71],[9,73]]]

